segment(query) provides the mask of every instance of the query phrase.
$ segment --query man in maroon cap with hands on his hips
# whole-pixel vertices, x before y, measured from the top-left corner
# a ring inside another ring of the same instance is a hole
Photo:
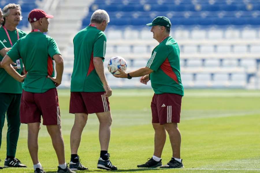
[[[21,123],[27,123],[28,126],[28,149],[34,163],[34,172],[45,173],[38,160],[38,133],[42,116],[43,125],[47,126],[58,157],[57,173],[75,173],[65,162],[56,89],[62,81],[63,59],[55,40],[43,34],[48,31],[48,18],[53,16],[47,15],[43,10],[32,10],[28,16],[31,33],[16,42],[1,65],[14,79],[23,82],[20,117]],[[10,66],[21,57],[27,72],[23,76]],[[56,77],[53,60],[56,64]]]

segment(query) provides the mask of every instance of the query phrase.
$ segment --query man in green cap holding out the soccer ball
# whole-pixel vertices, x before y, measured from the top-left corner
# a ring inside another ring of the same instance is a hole
[[[138,168],[184,168],[180,156],[181,133],[177,123],[180,122],[181,99],[184,95],[180,74],[180,50],[177,42],[170,36],[171,22],[167,17],[158,16],[151,26],[153,38],[159,45],[153,49],[146,67],[125,73],[120,71],[117,78],[140,77],[140,82],[147,84],[151,80],[155,92],[152,103],[152,124],[155,130],[153,157]],[[172,146],[172,158],[164,166],[161,153],[166,141],[166,131]]]

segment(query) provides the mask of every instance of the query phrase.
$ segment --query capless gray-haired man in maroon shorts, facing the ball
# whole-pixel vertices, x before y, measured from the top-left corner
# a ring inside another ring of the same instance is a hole
[[[99,119],[99,142],[101,146],[97,168],[117,170],[109,160],[108,145],[112,116],[108,97],[112,95],[104,72],[106,50],[105,31],[109,16],[105,10],[96,10],[90,25],[79,31],[74,39],[74,67],[70,87],[70,113],[75,114],[75,122],[70,133],[70,169],[86,170],[79,162],[77,154],[81,134],[88,114],[96,113]]]

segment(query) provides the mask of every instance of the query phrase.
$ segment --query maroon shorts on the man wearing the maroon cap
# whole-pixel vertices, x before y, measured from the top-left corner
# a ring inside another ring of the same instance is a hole
[[[31,93],[23,90],[20,106],[21,123],[40,123],[43,125],[60,124],[60,107],[57,89],[45,93]]]

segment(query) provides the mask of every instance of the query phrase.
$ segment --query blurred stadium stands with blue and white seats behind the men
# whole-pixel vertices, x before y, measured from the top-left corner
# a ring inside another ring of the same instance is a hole
[[[121,56],[127,71],[144,67],[158,42],[150,27],[156,16],[170,18],[171,36],[180,46],[181,79],[185,88],[260,89],[259,0],[1,0],[22,7],[19,29],[30,31],[27,16],[40,8],[55,18],[49,32],[64,58],[60,88],[70,87],[73,70],[73,37],[90,23],[92,13],[106,10],[105,72],[113,88],[150,87],[139,78],[114,78],[107,70],[109,59]]]

